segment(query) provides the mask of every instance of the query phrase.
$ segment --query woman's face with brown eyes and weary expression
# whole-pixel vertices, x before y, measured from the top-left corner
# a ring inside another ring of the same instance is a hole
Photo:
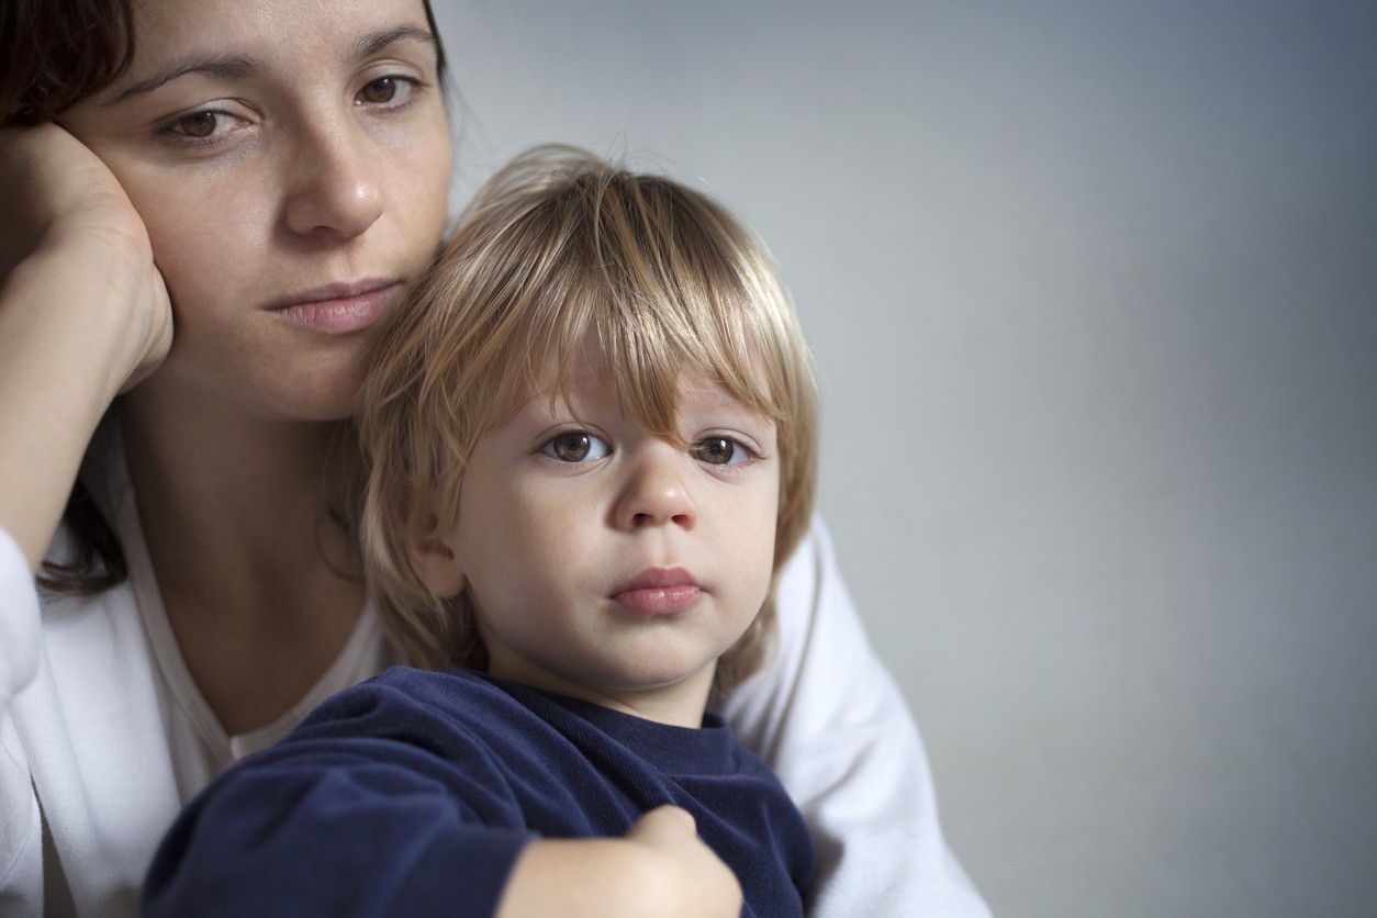
[[[450,140],[421,0],[143,0],[63,124],[124,186],[172,296],[145,385],[348,413],[368,330],[430,263]]]

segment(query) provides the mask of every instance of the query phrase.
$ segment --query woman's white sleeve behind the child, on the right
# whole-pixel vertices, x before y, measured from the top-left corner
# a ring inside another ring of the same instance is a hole
[[[779,578],[775,657],[724,705],[818,849],[810,918],[987,918],[942,837],[927,754],[814,519]]]

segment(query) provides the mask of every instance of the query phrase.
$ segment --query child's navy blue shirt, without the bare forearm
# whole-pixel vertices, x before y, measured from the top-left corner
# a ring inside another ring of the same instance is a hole
[[[620,837],[675,804],[744,915],[801,915],[814,848],[774,773],[701,729],[464,670],[390,669],[215,779],[178,818],[145,915],[492,915],[533,838]]]

